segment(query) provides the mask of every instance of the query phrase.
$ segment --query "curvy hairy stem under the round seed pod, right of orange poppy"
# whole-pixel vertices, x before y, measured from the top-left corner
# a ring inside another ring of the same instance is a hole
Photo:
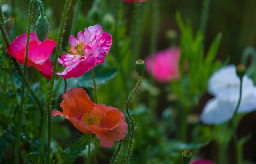
[[[126,111],[128,117],[129,117],[130,121],[131,121],[131,124],[132,124],[132,132],[131,132],[131,136],[130,136],[130,144],[129,144],[128,152],[127,152],[127,155],[126,155],[126,162],[125,162],[126,164],[128,163],[128,160],[129,160],[129,156],[130,156],[130,152],[131,152],[131,148],[132,148],[132,141],[133,141],[134,131],[135,131],[134,121],[133,121],[133,119],[132,119],[132,116],[131,116],[130,113],[129,113],[128,108],[129,108],[129,106],[130,106],[130,103],[131,103],[131,100],[132,100],[132,96],[135,94],[135,92],[137,91],[138,87],[140,86],[140,83],[141,83],[141,81],[142,81],[142,76],[143,76],[143,75],[140,75],[140,76],[139,76],[139,80],[138,80],[138,82],[137,82],[137,84],[136,84],[134,90],[133,90],[132,93],[130,94],[130,96],[129,96],[127,102],[126,102],[126,105],[125,105],[125,111]]]

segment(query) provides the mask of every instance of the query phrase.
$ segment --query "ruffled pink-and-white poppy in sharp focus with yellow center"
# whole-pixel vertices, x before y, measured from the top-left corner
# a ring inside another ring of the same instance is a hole
[[[58,62],[66,66],[62,78],[77,78],[82,76],[99,63],[104,63],[112,44],[112,36],[103,32],[100,25],[90,26],[77,34],[78,40],[71,35],[69,43],[71,54],[63,54]]]

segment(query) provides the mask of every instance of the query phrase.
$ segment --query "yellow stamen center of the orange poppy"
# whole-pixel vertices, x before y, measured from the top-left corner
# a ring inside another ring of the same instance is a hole
[[[84,121],[84,123],[88,126],[99,126],[100,125],[100,120],[102,119],[101,115],[99,112],[96,111],[95,112],[86,112],[83,114],[82,119]]]

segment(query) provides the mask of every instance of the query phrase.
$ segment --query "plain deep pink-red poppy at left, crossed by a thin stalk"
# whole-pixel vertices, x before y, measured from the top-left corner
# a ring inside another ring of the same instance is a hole
[[[8,53],[16,58],[20,64],[24,65],[25,52],[28,33],[24,33],[16,37],[16,39],[6,47]],[[27,66],[34,66],[45,78],[52,78],[52,62],[49,59],[56,42],[46,39],[41,42],[37,39],[36,33],[30,33],[28,61]]]

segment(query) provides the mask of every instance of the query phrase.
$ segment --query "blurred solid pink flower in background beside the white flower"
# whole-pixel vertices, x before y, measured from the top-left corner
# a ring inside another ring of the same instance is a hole
[[[168,48],[155,53],[152,61],[150,56],[145,59],[146,71],[159,82],[169,82],[170,79],[178,80],[180,49],[178,47]]]

